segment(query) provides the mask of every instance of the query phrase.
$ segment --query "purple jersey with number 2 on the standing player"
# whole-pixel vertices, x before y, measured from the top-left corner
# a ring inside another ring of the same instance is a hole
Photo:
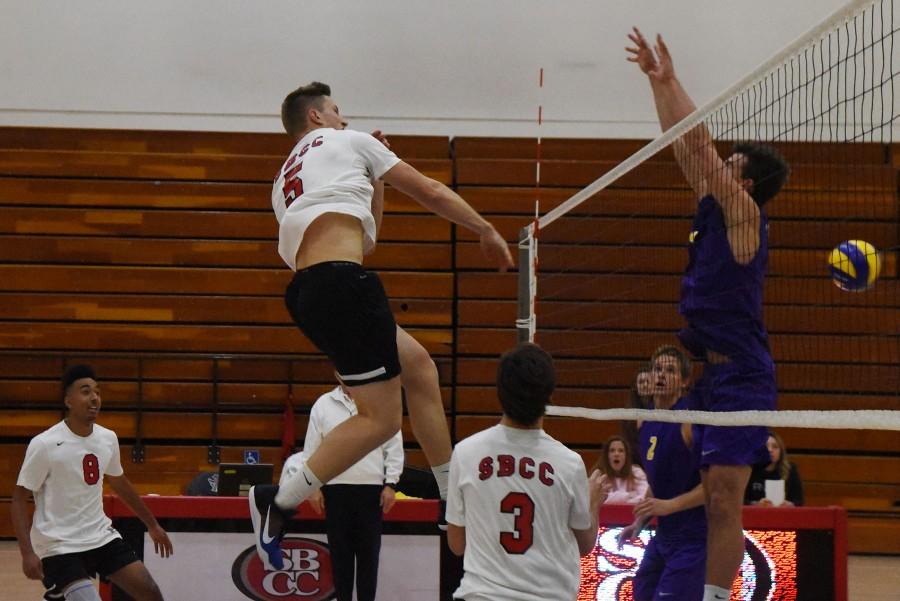
[[[682,397],[672,409],[690,409],[690,397]],[[700,484],[696,454],[681,436],[681,424],[644,422],[639,432],[641,459],[653,496],[672,499]],[[703,506],[658,518],[656,536],[663,540],[705,541],[706,513]]]

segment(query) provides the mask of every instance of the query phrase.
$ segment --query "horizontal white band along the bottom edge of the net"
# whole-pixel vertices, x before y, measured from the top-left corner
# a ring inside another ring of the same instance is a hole
[[[628,420],[703,424],[706,426],[767,426],[769,428],[819,428],[826,430],[900,431],[900,411],[688,411],[670,409],[586,409],[547,407],[547,415],[581,417],[599,421]]]

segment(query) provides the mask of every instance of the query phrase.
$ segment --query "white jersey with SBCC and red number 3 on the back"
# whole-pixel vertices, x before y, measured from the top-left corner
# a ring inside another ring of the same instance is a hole
[[[565,601],[578,594],[572,529],[591,527],[581,457],[543,430],[496,425],[456,445],[447,522],[466,529],[467,601]]]

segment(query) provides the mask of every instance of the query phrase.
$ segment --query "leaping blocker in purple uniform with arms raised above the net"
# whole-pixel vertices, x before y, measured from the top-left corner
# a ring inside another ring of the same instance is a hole
[[[628,60],[649,81],[663,130],[696,109],[657,36],[651,49],[635,28]],[[774,149],[738,144],[723,160],[702,123],[672,144],[700,199],[690,234],[690,260],[681,286],[682,344],[706,365],[697,382],[707,411],[774,410],[775,366],[762,319],[768,263],[765,204],[781,189],[788,166]],[[697,429],[706,514],[704,601],[727,599],[743,556],[741,503],[750,466],[766,457],[762,427]]]

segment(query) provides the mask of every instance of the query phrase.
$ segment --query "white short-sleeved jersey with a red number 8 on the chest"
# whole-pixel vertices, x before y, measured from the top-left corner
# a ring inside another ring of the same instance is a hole
[[[119,439],[94,424],[78,436],[64,421],[31,439],[16,484],[34,493],[31,545],[38,557],[77,553],[120,538],[103,513],[103,475],[122,475]]]

